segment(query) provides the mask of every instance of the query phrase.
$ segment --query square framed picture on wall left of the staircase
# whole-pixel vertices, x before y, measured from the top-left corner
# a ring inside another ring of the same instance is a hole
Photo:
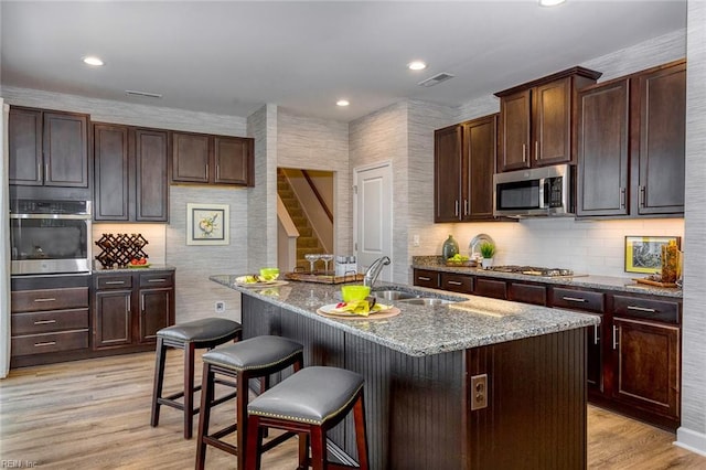
[[[186,204],[186,245],[228,245],[228,204]]]

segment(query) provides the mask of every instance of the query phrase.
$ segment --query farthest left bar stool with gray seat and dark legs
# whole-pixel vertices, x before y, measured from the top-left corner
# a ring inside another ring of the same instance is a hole
[[[157,362],[154,364],[154,388],[152,392],[152,416],[150,425],[159,425],[159,412],[161,405],[171,406],[184,412],[184,438],[191,439],[193,416],[199,413],[194,409],[194,392],[201,389],[201,385],[194,387],[194,352],[197,349],[212,349],[218,344],[232,340],[240,340],[243,327],[237,321],[225,318],[206,318],[186,323],[162,328],[157,332]],[[164,363],[167,362],[168,348],[184,350],[184,387],[181,392],[162,396],[164,384]],[[233,383],[222,382],[235,387]],[[223,403],[236,396],[233,392],[218,398]],[[183,397],[183,403],[179,398]]]

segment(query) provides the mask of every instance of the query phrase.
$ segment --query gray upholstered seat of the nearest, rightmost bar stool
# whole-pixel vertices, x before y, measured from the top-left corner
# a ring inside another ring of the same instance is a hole
[[[344,368],[306,367],[250,402],[247,413],[321,425],[341,413],[364,382]]]

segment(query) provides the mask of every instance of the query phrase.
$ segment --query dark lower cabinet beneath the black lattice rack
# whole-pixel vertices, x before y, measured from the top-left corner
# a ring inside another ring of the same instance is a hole
[[[99,274],[94,286],[94,350],[151,345],[174,323],[172,271]]]

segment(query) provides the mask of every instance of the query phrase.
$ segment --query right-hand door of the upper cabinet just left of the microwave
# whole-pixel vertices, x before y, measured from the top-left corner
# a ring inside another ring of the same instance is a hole
[[[498,149],[498,115],[463,125],[462,220],[493,218],[493,173]]]

